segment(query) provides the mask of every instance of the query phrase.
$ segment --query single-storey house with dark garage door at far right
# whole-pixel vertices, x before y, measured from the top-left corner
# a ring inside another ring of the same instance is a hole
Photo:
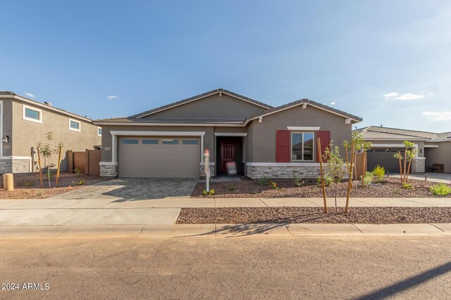
[[[412,159],[412,173],[429,171],[433,164],[444,164],[445,172],[451,173],[451,132],[432,133],[395,129],[382,126],[369,126],[357,129],[373,148],[368,152],[368,169],[377,164],[390,172],[400,172],[395,152],[403,151],[403,141],[415,144],[416,156]]]

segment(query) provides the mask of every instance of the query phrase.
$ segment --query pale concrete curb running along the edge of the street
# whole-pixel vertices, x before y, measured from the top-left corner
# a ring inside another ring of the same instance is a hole
[[[422,224],[137,224],[0,226],[0,240],[121,237],[451,235],[451,223]]]

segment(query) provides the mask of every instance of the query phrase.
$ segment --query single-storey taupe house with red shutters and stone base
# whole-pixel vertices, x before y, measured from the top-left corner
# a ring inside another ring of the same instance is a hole
[[[250,178],[314,178],[321,148],[349,140],[362,119],[311,100],[280,107],[225,89],[142,112],[101,119],[101,176],[199,177],[210,150],[211,175],[235,162]]]

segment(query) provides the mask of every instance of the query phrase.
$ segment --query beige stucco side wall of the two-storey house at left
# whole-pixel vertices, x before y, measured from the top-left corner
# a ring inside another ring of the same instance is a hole
[[[4,103],[6,101],[4,100]],[[52,146],[58,142],[64,144],[64,155],[61,163],[61,169],[66,170],[66,150],[82,151],[92,149],[94,145],[101,145],[101,137],[97,135],[97,127],[91,122],[86,122],[75,117],[69,117],[59,112],[47,110],[45,107],[37,107],[29,103],[25,105],[36,107],[42,110],[42,123],[31,122],[23,119],[23,102],[20,100],[11,100],[12,102],[12,132],[10,135],[12,156],[30,157],[31,148],[38,141],[47,143],[46,133],[53,133]],[[8,114],[4,112],[5,119]],[[81,122],[80,132],[69,130],[69,119],[75,119]],[[4,131],[4,135],[6,135]],[[5,155],[5,154],[4,154]],[[51,158],[51,162],[56,164],[57,155]]]

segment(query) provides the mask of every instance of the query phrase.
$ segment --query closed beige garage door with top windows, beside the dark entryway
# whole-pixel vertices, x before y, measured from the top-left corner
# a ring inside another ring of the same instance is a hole
[[[199,138],[119,138],[120,177],[192,178],[200,173]]]

